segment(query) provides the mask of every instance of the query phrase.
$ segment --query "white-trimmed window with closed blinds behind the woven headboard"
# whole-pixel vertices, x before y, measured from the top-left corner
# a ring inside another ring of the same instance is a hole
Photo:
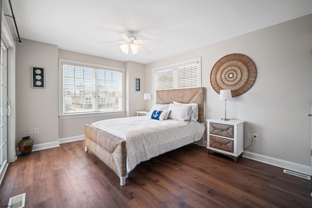
[[[200,87],[200,75],[200,58],[154,69],[154,103],[156,103],[156,90]]]

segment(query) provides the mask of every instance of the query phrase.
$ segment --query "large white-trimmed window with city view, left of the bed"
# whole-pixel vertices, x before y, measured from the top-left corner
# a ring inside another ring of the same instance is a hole
[[[124,69],[65,59],[59,68],[60,118],[124,112]]]

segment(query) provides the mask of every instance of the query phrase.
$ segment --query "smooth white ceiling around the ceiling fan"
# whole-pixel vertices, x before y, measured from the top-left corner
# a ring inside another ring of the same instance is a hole
[[[312,13],[312,0],[11,0],[20,38],[121,61],[150,63]],[[11,14],[10,14],[11,15]],[[7,17],[10,19],[9,17]],[[12,19],[11,19],[12,20]],[[117,32],[142,52],[124,55]],[[119,55],[117,55],[119,54]]]

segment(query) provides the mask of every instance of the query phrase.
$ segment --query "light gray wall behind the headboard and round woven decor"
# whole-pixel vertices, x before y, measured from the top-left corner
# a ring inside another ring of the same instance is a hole
[[[259,141],[248,151],[311,166],[311,22],[312,15],[305,16],[147,64],[146,81],[152,83],[154,68],[201,57],[206,119],[224,117],[211,69],[231,53],[251,57],[257,67],[254,86],[227,101],[227,117],[246,121],[244,148],[250,144],[247,133],[257,133]],[[146,90],[152,92],[152,86]]]

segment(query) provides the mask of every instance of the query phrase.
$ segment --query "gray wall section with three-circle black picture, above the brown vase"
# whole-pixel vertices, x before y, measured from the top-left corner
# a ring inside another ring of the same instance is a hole
[[[57,141],[58,46],[22,39],[16,49],[16,141],[34,128],[39,128],[31,135],[35,144]],[[44,89],[32,88],[32,66],[45,68]]]

